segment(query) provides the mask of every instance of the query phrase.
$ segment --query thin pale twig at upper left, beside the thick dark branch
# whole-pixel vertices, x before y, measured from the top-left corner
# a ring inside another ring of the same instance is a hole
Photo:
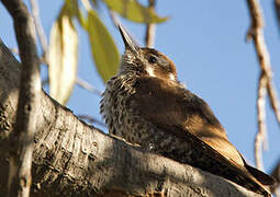
[[[48,45],[47,45],[47,39],[46,39],[46,35],[44,33],[43,26],[41,24],[41,20],[40,20],[40,9],[37,5],[37,1],[36,0],[30,0],[31,3],[31,9],[32,9],[32,15],[35,22],[35,27],[36,27],[36,32],[38,35],[38,39],[43,49],[43,59],[44,62],[48,61]]]

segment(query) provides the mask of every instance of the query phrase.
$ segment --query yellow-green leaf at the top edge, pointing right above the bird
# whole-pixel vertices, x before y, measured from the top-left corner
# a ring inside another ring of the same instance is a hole
[[[123,18],[136,23],[163,23],[168,18],[158,16],[152,8],[146,8],[137,0],[103,0],[109,9],[120,13]]]

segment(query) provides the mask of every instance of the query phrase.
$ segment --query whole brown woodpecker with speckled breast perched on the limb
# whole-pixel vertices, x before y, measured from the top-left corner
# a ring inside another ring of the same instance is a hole
[[[270,196],[273,178],[245,162],[209,105],[180,84],[172,61],[120,31],[125,54],[101,101],[109,132]]]

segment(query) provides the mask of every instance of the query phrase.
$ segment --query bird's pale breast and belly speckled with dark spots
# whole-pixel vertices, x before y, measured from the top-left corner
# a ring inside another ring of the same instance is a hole
[[[134,78],[112,78],[100,102],[100,112],[110,134],[143,146],[143,141],[147,142],[155,132],[155,127],[133,107],[134,82]]]

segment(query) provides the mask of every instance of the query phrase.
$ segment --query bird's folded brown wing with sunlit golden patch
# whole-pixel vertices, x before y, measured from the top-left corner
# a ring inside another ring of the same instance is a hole
[[[246,164],[202,99],[176,82],[158,78],[139,78],[134,88],[136,91],[130,105],[136,107],[147,121],[164,130],[177,130],[175,135],[180,137],[190,134],[188,136],[193,137],[198,143],[209,146],[208,151],[214,155],[212,158],[227,163],[228,166],[236,166],[245,172],[245,175],[253,175],[253,179],[257,178],[265,185],[273,183],[270,176]]]

